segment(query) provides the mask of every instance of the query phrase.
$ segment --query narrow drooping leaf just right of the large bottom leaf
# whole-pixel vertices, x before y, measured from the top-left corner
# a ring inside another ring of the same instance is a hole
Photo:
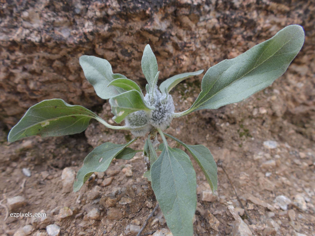
[[[172,135],[169,135],[167,133],[164,133],[164,134],[165,136],[172,138],[177,143],[185,147],[192,154],[193,158],[196,160],[201,170],[203,171],[212,191],[217,190],[218,171],[217,171],[215,160],[213,159],[213,156],[211,152],[209,151],[209,149],[201,144],[188,145],[186,143],[183,143],[179,139],[173,137]]]

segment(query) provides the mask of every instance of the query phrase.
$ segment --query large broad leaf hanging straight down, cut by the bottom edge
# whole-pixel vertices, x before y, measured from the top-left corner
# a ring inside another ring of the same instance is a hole
[[[152,189],[174,236],[193,235],[196,173],[188,155],[167,146],[151,166]]]

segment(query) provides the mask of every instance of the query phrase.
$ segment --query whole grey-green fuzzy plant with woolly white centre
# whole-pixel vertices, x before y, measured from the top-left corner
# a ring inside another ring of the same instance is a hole
[[[121,74],[113,74],[105,59],[81,56],[84,75],[100,98],[109,99],[117,123],[112,126],[92,111],[70,105],[61,99],[44,100],[33,105],[9,132],[9,142],[31,135],[60,136],[84,131],[90,119],[96,119],[111,129],[127,129],[136,137],[126,144],[103,143],[96,147],[83,162],[77,173],[73,190],[78,191],[94,172],[106,171],[111,161],[129,160],[139,150],[128,146],[137,137],[145,136],[143,151],[147,164],[144,176],[151,181],[152,189],[163,211],[167,225],[174,235],[193,235],[195,214],[196,173],[186,152],[169,147],[165,138],[171,138],[187,149],[196,160],[214,191],[217,189],[217,167],[209,151],[203,145],[188,145],[164,133],[172,119],[201,109],[217,109],[236,103],[269,86],[288,68],[304,42],[304,31],[299,25],[289,25],[269,40],[262,42],[234,59],[224,60],[207,70],[201,81],[198,98],[185,111],[175,113],[171,89],[180,81],[203,70],[170,77],[159,88],[157,60],[146,45],[141,67],[147,80],[146,95],[140,87]],[[158,145],[157,133],[163,143]],[[162,151],[157,156],[156,150]]]

